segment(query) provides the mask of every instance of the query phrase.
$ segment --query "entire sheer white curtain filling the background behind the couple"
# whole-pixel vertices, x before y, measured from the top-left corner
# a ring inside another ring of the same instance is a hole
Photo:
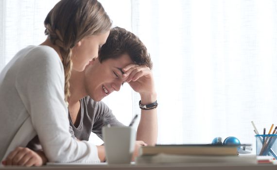
[[[100,0],[114,26],[137,34],[154,62],[158,143],[241,143],[277,125],[276,0]],[[45,38],[56,0],[0,1],[0,69]],[[104,102],[124,124],[139,114],[128,85]],[[138,122],[137,122],[138,125]]]

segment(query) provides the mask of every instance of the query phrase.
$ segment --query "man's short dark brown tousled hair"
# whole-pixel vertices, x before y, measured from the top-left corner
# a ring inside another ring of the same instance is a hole
[[[102,63],[109,58],[119,58],[125,53],[135,64],[152,69],[150,54],[138,36],[120,27],[112,28],[106,43],[99,51],[99,61]]]

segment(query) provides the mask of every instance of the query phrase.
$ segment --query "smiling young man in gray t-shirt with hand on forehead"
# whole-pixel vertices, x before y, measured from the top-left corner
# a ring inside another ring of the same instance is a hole
[[[140,146],[154,145],[157,139],[157,103],[151,68],[150,56],[138,37],[125,29],[113,28],[101,48],[99,58],[91,61],[83,72],[72,71],[69,98],[72,136],[79,140],[88,140],[90,133],[94,132],[102,138],[104,119],[111,125],[122,126],[104,102],[98,101],[113,91],[119,91],[121,85],[126,82],[141,97],[138,105],[141,108],[141,117],[133,156],[138,155]],[[37,150],[34,144],[35,139],[29,147]],[[104,146],[97,148],[100,160],[104,161]],[[40,166],[47,159],[41,151],[37,153],[26,148],[17,148],[4,163]]]

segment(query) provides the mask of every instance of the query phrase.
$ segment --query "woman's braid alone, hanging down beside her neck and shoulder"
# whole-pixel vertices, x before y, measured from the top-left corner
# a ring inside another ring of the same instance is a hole
[[[63,38],[58,30],[53,31],[50,24],[46,24],[45,27],[46,27],[45,32],[50,38],[51,42],[59,46],[60,48],[60,53],[63,59],[62,63],[64,66],[64,73],[65,73],[65,101],[68,104],[69,97],[70,97],[69,79],[71,76],[71,69],[72,69],[72,61],[71,61],[72,51],[69,47],[64,47]]]

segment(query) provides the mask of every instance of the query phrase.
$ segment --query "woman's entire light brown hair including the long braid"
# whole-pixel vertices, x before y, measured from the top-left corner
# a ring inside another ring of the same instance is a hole
[[[89,35],[109,31],[111,20],[97,0],[61,0],[44,21],[45,34],[60,48],[65,72],[65,101],[68,102],[72,48]]]

